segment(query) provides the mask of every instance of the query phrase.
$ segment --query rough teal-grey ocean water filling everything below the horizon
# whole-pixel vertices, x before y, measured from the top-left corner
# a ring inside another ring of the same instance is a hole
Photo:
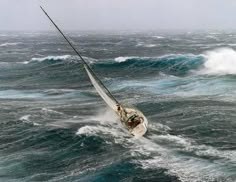
[[[68,32],[134,139],[56,32],[0,32],[0,181],[236,181],[235,32]]]

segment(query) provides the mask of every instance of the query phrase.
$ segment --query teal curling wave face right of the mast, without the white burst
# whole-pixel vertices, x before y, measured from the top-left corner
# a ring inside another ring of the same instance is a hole
[[[117,57],[113,63],[100,63],[100,66],[143,73],[165,73],[181,76],[188,74],[191,70],[200,69],[204,63],[202,55],[193,54],[171,54],[161,57]],[[144,69],[140,71],[140,69]]]

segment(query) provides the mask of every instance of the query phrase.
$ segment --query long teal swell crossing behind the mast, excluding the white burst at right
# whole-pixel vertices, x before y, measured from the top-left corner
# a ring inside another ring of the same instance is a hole
[[[115,59],[94,60],[85,58],[86,61],[97,71],[108,72],[137,72],[140,74],[163,72],[170,75],[183,76],[189,73],[190,70],[198,69],[204,63],[204,57],[201,55],[165,55],[161,57],[119,57]],[[120,61],[121,60],[121,61]],[[44,58],[32,58],[31,61],[25,62],[26,65],[37,66],[58,66],[65,67],[73,64],[81,65],[81,62],[76,59],[76,56],[47,56]],[[64,68],[63,68],[64,69]],[[140,72],[140,70],[143,70]],[[138,74],[137,74],[138,75]]]

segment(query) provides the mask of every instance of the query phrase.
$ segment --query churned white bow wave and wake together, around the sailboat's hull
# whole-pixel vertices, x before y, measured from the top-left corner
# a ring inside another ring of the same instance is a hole
[[[226,174],[223,170],[228,167],[227,161],[235,162],[234,151],[221,151],[211,146],[197,145],[183,136],[150,133],[147,138],[135,140],[128,138],[127,134],[119,128],[101,125],[85,125],[79,128],[76,134],[99,136],[107,139],[107,144],[121,144],[130,149],[133,162],[141,168],[164,168],[167,169],[167,174],[177,176],[181,181],[186,182],[219,179]],[[166,143],[168,143],[167,146]],[[188,155],[181,155],[182,152]],[[204,160],[208,157],[220,160],[221,164]]]

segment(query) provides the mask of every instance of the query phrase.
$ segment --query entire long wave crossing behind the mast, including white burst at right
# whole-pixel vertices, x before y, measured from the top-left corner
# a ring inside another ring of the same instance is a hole
[[[233,66],[236,62],[236,52],[230,48],[216,49],[198,55],[169,54],[159,57],[120,56],[105,60],[84,58],[96,72],[100,72],[101,74],[105,72],[120,74],[123,72],[123,74],[126,75],[135,74],[137,77],[151,74],[173,76],[186,76],[193,73],[217,75],[236,74],[236,68]],[[81,61],[78,60],[76,56],[72,55],[32,58],[30,61],[24,62],[24,64],[42,64],[42,66],[44,64],[47,66],[60,64],[60,67],[57,67],[57,69],[61,71],[69,69],[68,64],[71,64],[70,69],[73,70],[81,68]],[[55,69],[53,69],[53,71],[55,71]],[[79,72],[79,74],[82,74],[82,72]]]

